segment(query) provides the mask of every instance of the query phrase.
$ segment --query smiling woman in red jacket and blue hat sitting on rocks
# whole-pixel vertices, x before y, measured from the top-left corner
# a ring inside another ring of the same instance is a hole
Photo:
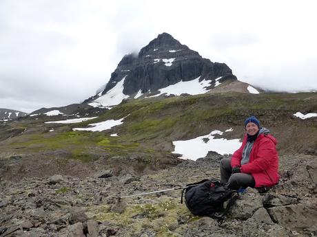
[[[232,159],[221,159],[221,183],[228,188],[269,187],[278,183],[276,139],[254,116],[245,120],[246,135]]]

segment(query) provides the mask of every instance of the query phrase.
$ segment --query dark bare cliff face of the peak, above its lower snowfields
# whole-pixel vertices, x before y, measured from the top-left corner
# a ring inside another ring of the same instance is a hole
[[[225,63],[212,63],[202,58],[198,52],[189,49],[174,39],[170,34],[159,34],[157,38],[143,47],[138,55],[125,55],[111,75],[110,81],[102,94],[112,89],[117,82],[125,78],[123,93],[133,95],[155,92],[176,82],[194,80],[212,80],[220,82],[236,80],[232,70]]]

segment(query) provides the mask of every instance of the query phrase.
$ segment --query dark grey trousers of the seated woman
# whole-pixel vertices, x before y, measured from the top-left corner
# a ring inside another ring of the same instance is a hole
[[[255,181],[251,174],[235,173],[232,174],[231,159],[223,158],[220,161],[221,183],[228,188],[238,190],[239,188],[254,188]]]

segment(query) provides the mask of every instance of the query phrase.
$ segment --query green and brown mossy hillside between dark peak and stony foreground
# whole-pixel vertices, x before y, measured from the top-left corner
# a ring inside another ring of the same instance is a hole
[[[174,166],[180,160],[171,153],[173,141],[227,128],[233,131],[223,137],[240,139],[249,115],[256,115],[277,137],[281,155],[314,153],[317,118],[300,120],[294,117],[298,111],[316,112],[317,94],[214,93],[126,100],[98,118],[79,124],[44,123],[65,120],[61,115],[20,118],[0,126],[1,163],[5,164],[0,172],[8,179],[28,176],[30,172],[49,175],[57,170],[85,177],[101,167],[139,173]],[[89,110],[86,114],[94,116]],[[123,124],[107,131],[72,131],[123,117]],[[110,136],[113,133],[119,136]]]

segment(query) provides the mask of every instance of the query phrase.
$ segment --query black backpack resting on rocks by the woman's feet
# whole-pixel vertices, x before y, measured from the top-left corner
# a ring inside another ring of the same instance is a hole
[[[203,179],[197,183],[187,185],[185,191],[185,204],[196,216],[210,216],[223,218],[229,208],[238,198],[236,191],[226,188],[219,181]],[[181,203],[183,203],[183,192]],[[223,206],[228,201],[226,207]]]

